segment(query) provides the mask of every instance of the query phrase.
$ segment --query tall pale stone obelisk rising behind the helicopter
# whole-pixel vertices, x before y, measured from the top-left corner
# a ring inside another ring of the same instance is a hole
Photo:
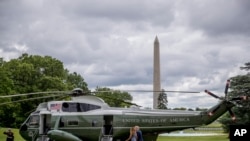
[[[161,73],[160,73],[160,43],[158,37],[154,41],[154,79],[153,79],[153,108],[158,107],[158,97],[161,91]]]

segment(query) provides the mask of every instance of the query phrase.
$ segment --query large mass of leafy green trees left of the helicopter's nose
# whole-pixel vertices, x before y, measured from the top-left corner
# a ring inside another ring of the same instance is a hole
[[[75,72],[69,73],[67,69],[64,69],[61,61],[50,56],[22,54],[10,61],[0,58],[0,95],[65,91],[75,87],[88,90],[87,83],[81,75]],[[39,103],[51,99],[36,99],[19,103],[14,103],[14,101],[40,96],[1,98],[1,103],[8,101],[13,101],[13,103],[1,105],[0,126],[19,127]]]

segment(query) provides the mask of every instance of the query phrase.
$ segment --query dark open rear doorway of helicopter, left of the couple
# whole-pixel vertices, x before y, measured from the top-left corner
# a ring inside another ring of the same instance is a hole
[[[104,135],[113,135],[113,115],[104,115],[103,122]]]

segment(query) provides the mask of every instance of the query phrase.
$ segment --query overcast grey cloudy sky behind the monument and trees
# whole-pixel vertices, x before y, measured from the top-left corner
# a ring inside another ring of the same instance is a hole
[[[0,57],[49,55],[90,89],[152,90],[160,42],[168,107],[211,107],[250,61],[249,0],[0,0]],[[152,107],[152,93],[131,93]]]

